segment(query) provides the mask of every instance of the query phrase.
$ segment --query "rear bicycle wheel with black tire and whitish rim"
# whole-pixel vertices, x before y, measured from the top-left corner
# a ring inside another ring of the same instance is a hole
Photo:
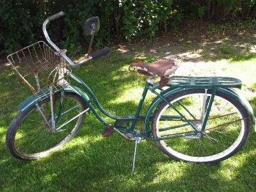
[[[180,105],[181,103],[184,106],[187,105],[186,108],[190,110],[192,109],[191,106],[195,105],[194,102],[192,102],[193,100],[192,101],[189,100],[190,97],[191,99],[194,99],[195,97],[200,97],[201,94],[204,95],[205,90],[184,90],[182,92],[178,92],[173,95],[170,95],[170,97],[168,97],[168,100],[172,104],[174,105],[176,104],[177,108],[184,109]],[[211,95],[211,91],[208,91],[207,97],[209,97],[210,95]],[[220,101],[218,101],[217,99]],[[227,102],[226,106],[228,105],[228,108],[224,109],[223,113],[219,111],[218,114],[220,115],[216,115],[218,109],[219,110],[221,109],[220,105],[222,104],[222,101],[223,103]],[[198,102],[198,104],[199,103],[200,102]],[[191,132],[192,130],[192,132],[195,132],[195,130],[192,129],[190,125],[170,129],[171,124],[175,123],[179,126],[179,125],[182,125],[181,122],[184,123],[184,120],[182,120],[181,118],[174,119],[173,116],[171,117],[171,115],[177,115],[177,112],[176,114],[174,114],[173,112],[174,110],[168,107],[167,105],[168,104],[166,104],[166,102],[164,101],[160,102],[159,105],[157,106],[156,111],[154,112],[154,116],[152,120],[152,134],[154,138],[161,138],[163,136],[166,136],[164,135],[165,131],[168,132],[168,134],[170,134],[169,136],[172,136],[172,134],[181,135],[184,133],[184,130],[188,132],[189,131]],[[232,109],[230,106],[231,107],[234,106],[234,109]],[[193,111],[193,113],[196,114],[196,108],[191,111]],[[184,115],[184,113],[182,114]],[[212,116],[211,116],[211,113],[212,113]],[[166,119],[164,120],[164,118],[166,118],[166,114],[167,114],[167,117],[169,118],[168,120]],[[168,116],[168,114],[170,115]],[[185,116],[188,118],[189,115],[186,114]],[[193,118],[193,121],[197,122],[198,121],[197,119],[198,118],[195,117]],[[229,122],[225,124],[225,122],[223,122],[224,120]],[[177,122],[180,122],[180,123],[177,123]],[[221,124],[219,122],[221,122]],[[166,130],[166,125],[169,125],[167,126],[168,131]],[[214,128],[214,126],[216,128]],[[214,103],[212,104],[209,121],[207,122],[205,132],[204,134],[202,134],[200,139],[188,138],[188,137],[185,138],[185,136],[180,136],[179,138],[159,140],[159,141],[156,141],[156,144],[157,144],[157,147],[159,147],[164,152],[164,154],[166,154],[167,156],[177,161],[195,162],[195,163],[218,163],[234,155],[238,150],[240,150],[240,148],[244,145],[245,141],[248,138],[249,127],[250,127],[250,118],[244,106],[241,103],[237,102],[236,100],[233,100],[232,98],[228,97],[228,95],[224,95],[221,92],[216,92],[216,97],[214,98]],[[180,129],[180,132],[179,132],[179,129]],[[183,129],[183,132],[182,132],[182,129]],[[239,129],[241,130],[239,131]],[[224,138],[224,139],[220,141],[220,138]],[[233,140],[236,140],[236,141],[232,143]],[[228,147],[229,145],[230,147]],[[228,147],[228,148],[223,150],[225,147]],[[195,152],[192,151],[193,148],[195,148],[194,149]]]

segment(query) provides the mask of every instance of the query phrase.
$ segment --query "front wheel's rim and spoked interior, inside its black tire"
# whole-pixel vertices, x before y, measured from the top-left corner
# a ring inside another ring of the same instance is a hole
[[[56,120],[56,118],[58,118],[56,113],[60,113],[60,110],[58,110],[58,108],[60,108],[58,105],[60,103],[58,102],[60,96],[58,97],[57,95],[54,99],[54,120]],[[22,157],[33,159],[44,156],[52,152],[52,149],[56,150],[56,148],[67,143],[81,127],[84,113],[88,110],[78,101],[77,96],[74,97],[72,94],[69,96],[67,93],[67,95],[64,96],[63,109],[61,109],[60,120],[58,121],[58,131],[47,129],[45,121],[42,116],[38,114],[36,109],[28,113],[15,136],[15,148],[17,153]],[[43,104],[45,116],[51,118],[49,99],[48,102],[44,102]],[[49,122],[51,122],[51,119],[49,119]]]

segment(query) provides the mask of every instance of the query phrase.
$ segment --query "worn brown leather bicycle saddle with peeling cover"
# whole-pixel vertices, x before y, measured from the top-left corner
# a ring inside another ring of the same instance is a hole
[[[179,66],[177,62],[172,59],[160,59],[152,63],[143,63],[143,61],[136,61],[131,63],[129,70],[131,72],[138,72],[145,76],[150,77],[161,77],[159,82],[160,86],[166,86],[169,81],[169,78],[173,76],[175,70]]]

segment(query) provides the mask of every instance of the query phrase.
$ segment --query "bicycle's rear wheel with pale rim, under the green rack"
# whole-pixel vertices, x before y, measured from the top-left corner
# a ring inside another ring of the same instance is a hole
[[[193,129],[177,111],[162,101],[154,112],[152,133],[167,156],[178,161],[218,163],[235,154],[249,132],[249,117],[243,105],[216,92],[210,115],[202,130],[211,91],[184,90],[168,97],[169,102],[199,130]],[[201,129],[201,130],[200,130]],[[164,138],[172,138],[161,140]]]

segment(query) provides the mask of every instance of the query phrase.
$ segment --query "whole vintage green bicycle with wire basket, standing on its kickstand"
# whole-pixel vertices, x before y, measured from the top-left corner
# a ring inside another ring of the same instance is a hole
[[[196,163],[217,163],[243,146],[250,122],[255,126],[255,116],[248,101],[233,89],[241,88],[241,81],[232,77],[173,76],[178,67],[173,59],[132,63],[131,71],[148,76],[136,113],[109,114],[88,85],[70,70],[108,54],[109,49],[92,54],[89,49],[83,60],[73,63],[65,50],[51,41],[46,30],[51,20],[62,15],[60,12],[48,17],[43,25],[45,38],[55,51],[45,42],[37,42],[8,56],[33,92],[19,105],[19,114],[6,134],[6,144],[13,156],[32,160],[51,154],[74,138],[89,111],[106,125],[103,136],[116,131],[135,141],[134,162],[141,139],[156,141],[157,147],[173,159]],[[93,40],[97,31],[99,18],[87,19],[84,35],[92,35]],[[154,83],[156,76],[161,80]],[[71,81],[76,81],[83,90]],[[147,113],[141,115],[148,90],[156,99]],[[115,120],[115,124],[106,122],[96,109]],[[138,120],[144,122],[143,130],[136,130]]]

